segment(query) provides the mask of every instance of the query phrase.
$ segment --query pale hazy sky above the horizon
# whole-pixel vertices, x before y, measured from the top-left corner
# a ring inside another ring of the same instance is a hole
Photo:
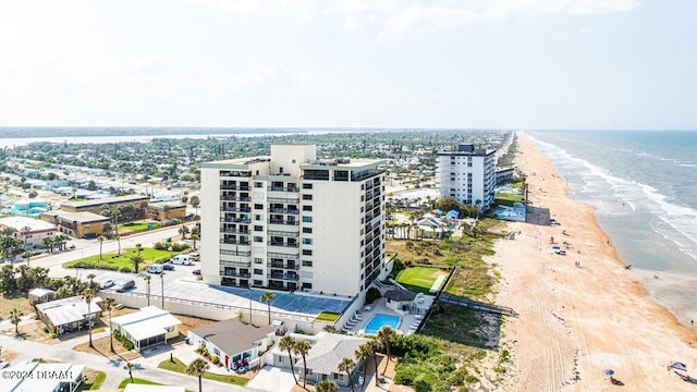
[[[0,126],[697,130],[697,1],[0,0]]]

